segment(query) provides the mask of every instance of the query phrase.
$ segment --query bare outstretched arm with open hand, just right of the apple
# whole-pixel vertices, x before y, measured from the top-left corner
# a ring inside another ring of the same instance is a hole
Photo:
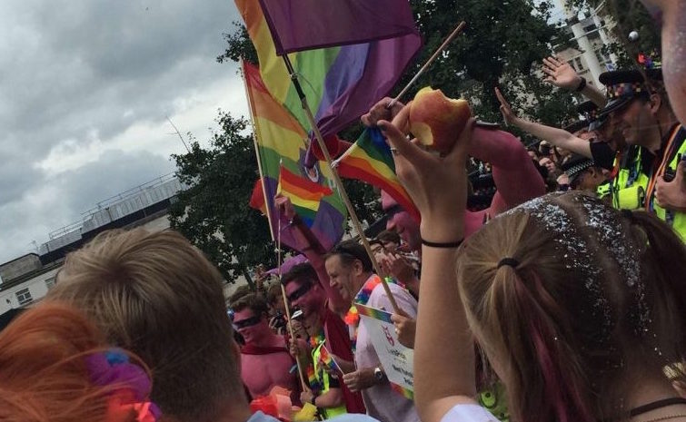
[[[572,133],[563,131],[551,126],[546,126],[541,123],[534,123],[517,117],[512,112],[510,103],[505,100],[498,88],[495,88],[495,95],[501,103],[501,113],[505,122],[514,124],[524,132],[531,133],[533,136],[551,142],[555,146],[564,148],[565,150],[576,152],[584,157],[592,158],[590,142],[578,138]]]

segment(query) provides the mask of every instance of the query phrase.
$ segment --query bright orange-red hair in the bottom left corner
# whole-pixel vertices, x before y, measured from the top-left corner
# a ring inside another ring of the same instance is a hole
[[[108,414],[121,386],[94,386],[85,356],[103,351],[100,333],[83,315],[44,303],[0,332],[0,420],[8,422],[129,422]]]

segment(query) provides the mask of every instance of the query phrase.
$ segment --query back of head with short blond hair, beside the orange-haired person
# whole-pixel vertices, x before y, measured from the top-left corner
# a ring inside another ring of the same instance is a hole
[[[216,419],[243,388],[222,277],[174,231],[106,231],[67,255],[49,297],[84,310],[153,370],[165,415]]]

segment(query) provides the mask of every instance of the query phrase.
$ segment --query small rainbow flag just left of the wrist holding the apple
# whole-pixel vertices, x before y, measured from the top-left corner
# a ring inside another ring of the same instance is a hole
[[[367,128],[357,141],[343,152],[335,162],[338,174],[348,179],[357,179],[386,191],[408,211],[413,219],[420,221],[420,214],[410,195],[395,175],[395,162],[388,143],[378,128]]]

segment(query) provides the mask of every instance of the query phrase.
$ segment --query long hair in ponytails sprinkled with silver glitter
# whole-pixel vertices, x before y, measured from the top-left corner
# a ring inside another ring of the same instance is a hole
[[[686,358],[686,249],[645,212],[548,195],[490,221],[458,260],[467,318],[514,420],[623,415],[632,376]]]

